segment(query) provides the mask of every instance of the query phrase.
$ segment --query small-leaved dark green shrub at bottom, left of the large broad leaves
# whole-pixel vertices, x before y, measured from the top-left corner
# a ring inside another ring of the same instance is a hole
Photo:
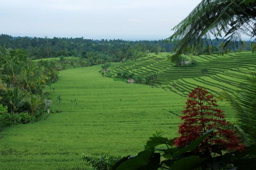
[[[82,159],[92,165],[92,170],[112,170],[114,164],[122,158],[123,156],[114,156],[109,152],[103,152],[98,158],[82,154]]]

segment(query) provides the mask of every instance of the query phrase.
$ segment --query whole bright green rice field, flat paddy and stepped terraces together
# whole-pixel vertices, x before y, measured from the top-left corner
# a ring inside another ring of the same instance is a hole
[[[193,88],[232,93],[256,64],[256,55],[246,52],[194,58],[198,66],[193,68],[175,68],[166,61],[166,54],[114,63],[109,68],[112,74],[120,70],[136,75],[158,73],[156,88],[103,77],[100,65],[60,71],[58,81],[48,89],[53,101],[58,95],[62,98],[60,113],[2,128],[0,169],[82,170],[88,169],[82,153],[134,155],[156,131],[162,130],[167,138],[178,136],[179,116]],[[235,58],[241,58],[239,66]],[[203,76],[200,69],[206,66],[209,73]],[[74,99],[78,106],[71,112]],[[218,104],[227,119],[235,122],[234,112],[224,102]],[[57,110],[56,105],[51,109]]]

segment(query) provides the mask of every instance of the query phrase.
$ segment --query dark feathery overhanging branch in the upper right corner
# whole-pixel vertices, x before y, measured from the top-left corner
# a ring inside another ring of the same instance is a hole
[[[255,37],[255,25],[256,0],[202,0],[182,22],[172,28],[175,32],[165,42],[177,40],[175,55],[179,55],[187,46],[196,46],[201,40],[212,36],[226,38],[225,45],[241,40],[241,34]],[[230,44],[234,46],[234,43]]]

